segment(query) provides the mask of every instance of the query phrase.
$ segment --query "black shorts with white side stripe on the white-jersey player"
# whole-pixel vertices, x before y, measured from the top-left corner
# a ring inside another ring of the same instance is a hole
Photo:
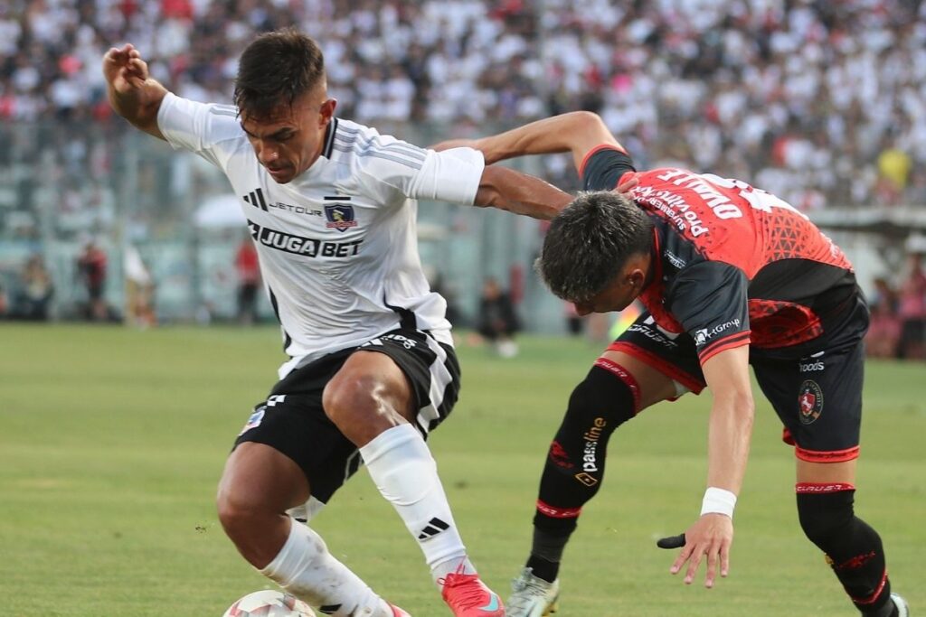
[[[293,459],[308,479],[312,497],[327,503],[359,469],[357,446],[342,435],[321,406],[321,393],[354,352],[380,352],[408,379],[424,438],[450,413],[460,387],[457,354],[419,330],[396,329],[356,348],[326,355],[295,369],[259,402],[235,439],[267,444]]]

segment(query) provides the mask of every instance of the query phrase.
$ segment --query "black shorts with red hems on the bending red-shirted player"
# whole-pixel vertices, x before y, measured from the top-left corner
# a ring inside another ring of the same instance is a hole
[[[658,327],[648,312],[608,350],[625,352],[669,376],[679,395],[686,390],[699,393],[706,386],[694,340]],[[763,357],[754,348],[749,364],[784,425],[785,443],[795,446],[797,458],[813,463],[857,458],[865,362],[860,337],[841,341],[838,347],[821,343],[819,351],[794,358],[775,352],[775,358]]]

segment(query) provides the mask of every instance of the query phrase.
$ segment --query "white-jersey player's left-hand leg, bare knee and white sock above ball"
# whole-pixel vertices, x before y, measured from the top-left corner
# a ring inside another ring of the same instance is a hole
[[[359,611],[394,617],[393,608],[334,559],[317,533],[284,513],[308,498],[306,476],[292,459],[245,442],[229,456],[219,482],[219,521],[244,559],[310,606],[343,617]]]

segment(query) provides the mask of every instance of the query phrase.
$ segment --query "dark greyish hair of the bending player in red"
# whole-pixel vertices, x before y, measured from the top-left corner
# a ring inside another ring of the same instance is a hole
[[[585,302],[652,247],[653,221],[639,206],[613,191],[581,192],[553,219],[534,267],[557,297]]]

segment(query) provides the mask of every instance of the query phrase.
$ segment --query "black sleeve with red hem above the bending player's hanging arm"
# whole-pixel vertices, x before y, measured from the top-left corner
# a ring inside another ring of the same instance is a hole
[[[748,285],[740,268],[707,261],[683,268],[669,284],[666,306],[694,339],[702,364],[749,343]]]

